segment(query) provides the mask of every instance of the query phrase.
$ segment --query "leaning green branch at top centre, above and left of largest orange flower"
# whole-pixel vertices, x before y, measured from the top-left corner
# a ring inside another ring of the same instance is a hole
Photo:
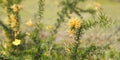
[[[57,29],[61,26],[62,22],[64,22],[65,18],[71,18],[70,14],[75,13],[80,18],[82,18],[79,7],[77,7],[78,3],[83,0],[63,0],[60,2],[61,11],[57,12],[58,18],[57,22],[55,23],[55,28],[53,30],[53,34],[57,33]]]

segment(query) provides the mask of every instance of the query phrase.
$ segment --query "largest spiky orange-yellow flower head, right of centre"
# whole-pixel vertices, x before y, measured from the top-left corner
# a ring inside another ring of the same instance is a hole
[[[79,28],[80,27],[80,20],[79,19],[70,19],[68,22],[70,29],[72,28]]]

